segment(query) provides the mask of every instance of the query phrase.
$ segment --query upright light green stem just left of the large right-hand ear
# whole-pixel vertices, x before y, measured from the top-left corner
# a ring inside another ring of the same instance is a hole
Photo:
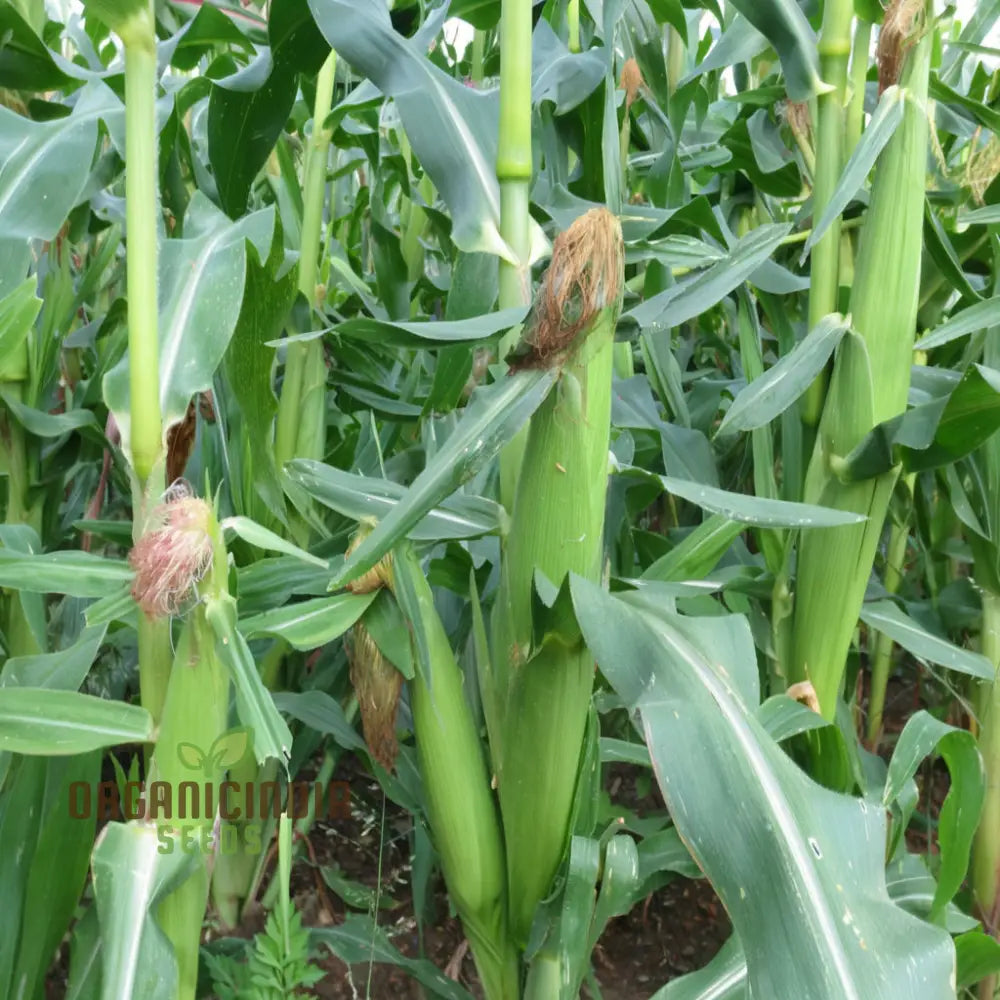
[[[847,65],[851,55],[851,0],[827,0],[820,34],[820,71],[833,89],[816,98],[816,169],[813,184],[813,219],[826,211],[843,166],[844,102]],[[809,329],[837,310],[840,264],[840,217],[813,247],[809,275]],[[813,382],[803,398],[802,419],[815,426],[826,395],[826,376]]]

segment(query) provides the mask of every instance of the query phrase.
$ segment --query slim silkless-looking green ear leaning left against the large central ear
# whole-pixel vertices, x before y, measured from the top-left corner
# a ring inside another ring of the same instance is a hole
[[[426,639],[410,684],[410,710],[427,818],[448,894],[462,920],[489,1000],[517,1000],[519,965],[506,916],[496,804],[462,671],[409,544],[395,553],[392,589]]]

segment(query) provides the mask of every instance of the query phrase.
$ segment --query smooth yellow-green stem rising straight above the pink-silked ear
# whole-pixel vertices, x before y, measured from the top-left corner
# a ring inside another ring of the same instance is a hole
[[[125,41],[125,242],[128,278],[132,466],[145,488],[160,457],[157,334],[156,35],[152,4],[129,22]]]

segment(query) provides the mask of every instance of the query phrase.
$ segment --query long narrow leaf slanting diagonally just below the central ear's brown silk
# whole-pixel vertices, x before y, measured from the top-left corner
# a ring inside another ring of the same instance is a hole
[[[541,405],[553,381],[551,372],[526,370],[477,389],[444,447],[345,560],[330,589],[337,590],[366,573],[421,518],[479,472]]]

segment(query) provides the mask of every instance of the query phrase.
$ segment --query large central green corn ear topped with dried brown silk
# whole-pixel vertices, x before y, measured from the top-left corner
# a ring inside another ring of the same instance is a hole
[[[577,219],[552,263],[515,355],[558,367],[531,418],[494,611],[501,708],[490,734],[507,847],[511,928],[527,939],[569,836],[594,680],[581,640],[533,643],[533,578],[601,576],[614,330],[624,285],[621,227],[606,209]]]

